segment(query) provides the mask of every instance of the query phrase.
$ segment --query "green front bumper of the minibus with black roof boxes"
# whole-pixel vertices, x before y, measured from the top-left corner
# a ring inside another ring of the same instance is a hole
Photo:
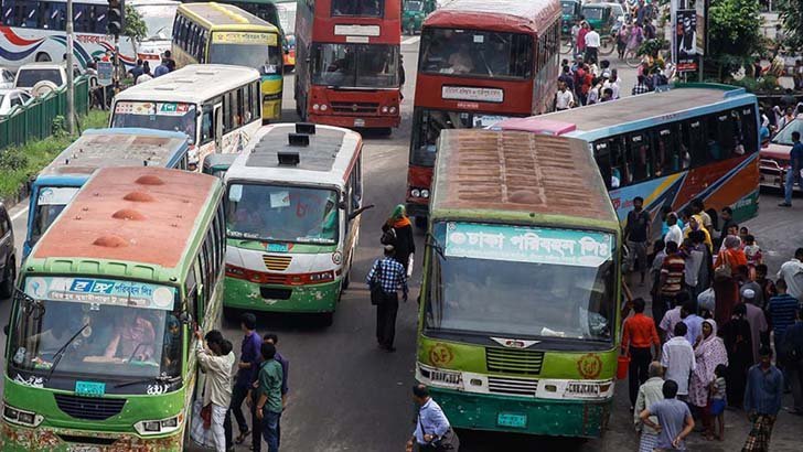
[[[226,277],[223,305],[267,312],[334,312],[340,298],[341,279],[322,284],[257,284]]]

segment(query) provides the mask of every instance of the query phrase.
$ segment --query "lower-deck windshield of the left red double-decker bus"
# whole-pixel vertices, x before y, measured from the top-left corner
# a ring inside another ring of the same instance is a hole
[[[385,44],[317,44],[312,49],[312,83],[334,87],[396,88],[398,46]]]

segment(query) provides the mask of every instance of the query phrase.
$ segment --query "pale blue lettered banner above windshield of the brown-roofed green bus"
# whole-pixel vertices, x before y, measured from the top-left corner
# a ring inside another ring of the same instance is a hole
[[[447,257],[599,267],[613,256],[613,236],[596,230],[448,223]]]

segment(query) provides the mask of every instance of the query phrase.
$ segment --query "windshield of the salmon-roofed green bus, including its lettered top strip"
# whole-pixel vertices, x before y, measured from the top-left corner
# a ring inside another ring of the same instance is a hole
[[[62,277],[29,277],[24,287],[12,336],[14,367],[98,379],[180,375],[174,288]]]

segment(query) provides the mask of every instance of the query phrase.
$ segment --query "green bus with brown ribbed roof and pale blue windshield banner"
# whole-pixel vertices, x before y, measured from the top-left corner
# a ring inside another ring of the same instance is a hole
[[[621,229],[588,147],[443,130],[432,186],[416,379],[456,428],[600,435]]]

